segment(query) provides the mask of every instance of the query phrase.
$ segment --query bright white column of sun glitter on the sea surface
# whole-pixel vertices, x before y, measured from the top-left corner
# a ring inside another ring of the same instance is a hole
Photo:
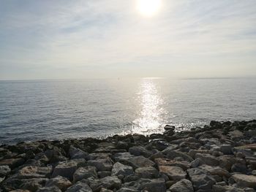
[[[162,132],[165,125],[165,110],[162,108],[163,100],[153,79],[144,78],[138,92],[140,113],[133,121],[135,126],[132,132],[137,134],[152,134]]]

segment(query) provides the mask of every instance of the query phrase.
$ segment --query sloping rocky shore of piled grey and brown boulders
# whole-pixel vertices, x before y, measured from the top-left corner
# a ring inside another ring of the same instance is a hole
[[[256,120],[164,134],[0,146],[0,191],[192,192],[256,189]]]

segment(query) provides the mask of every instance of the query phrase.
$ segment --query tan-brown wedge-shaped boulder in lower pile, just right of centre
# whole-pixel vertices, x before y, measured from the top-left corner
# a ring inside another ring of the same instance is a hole
[[[170,180],[182,180],[187,176],[178,166],[159,166],[159,173],[166,174]]]

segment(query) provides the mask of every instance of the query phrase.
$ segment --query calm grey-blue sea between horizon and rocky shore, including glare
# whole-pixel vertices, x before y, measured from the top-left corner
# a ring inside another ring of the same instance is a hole
[[[0,142],[161,133],[256,118],[256,80],[0,81]]]

